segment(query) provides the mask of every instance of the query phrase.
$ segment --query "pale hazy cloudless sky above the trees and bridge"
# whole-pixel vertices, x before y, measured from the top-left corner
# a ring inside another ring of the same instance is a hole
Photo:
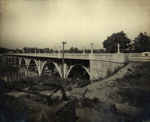
[[[0,47],[102,49],[120,31],[150,35],[150,0],[0,0]]]

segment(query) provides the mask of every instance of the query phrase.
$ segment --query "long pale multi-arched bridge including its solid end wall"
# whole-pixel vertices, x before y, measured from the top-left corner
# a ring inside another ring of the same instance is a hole
[[[9,63],[25,66],[27,70],[36,68],[39,76],[45,65],[51,63],[62,78],[62,53],[13,53],[3,56]],[[70,71],[78,65],[86,71],[90,80],[97,80],[105,77],[108,70],[113,72],[118,66],[123,66],[128,59],[129,54],[125,53],[65,53],[64,78],[68,78]]]

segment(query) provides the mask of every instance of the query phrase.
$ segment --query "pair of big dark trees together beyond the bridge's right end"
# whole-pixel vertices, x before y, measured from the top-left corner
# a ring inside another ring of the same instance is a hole
[[[123,31],[113,33],[108,36],[103,42],[103,47],[107,53],[116,53],[117,45],[120,45],[120,52],[122,53],[141,53],[150,51],[150,36],[146,32],[140,33],[134,40],[127,37]]]

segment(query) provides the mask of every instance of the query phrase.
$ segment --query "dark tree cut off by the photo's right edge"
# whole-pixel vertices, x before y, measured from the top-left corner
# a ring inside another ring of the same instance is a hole
[[[150,36],[145,33],[140,33],[132,43],[132,51],[141,53],[150,51]]]

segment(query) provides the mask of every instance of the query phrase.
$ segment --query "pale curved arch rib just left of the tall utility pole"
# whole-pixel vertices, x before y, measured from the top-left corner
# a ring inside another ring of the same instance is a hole
[[[48,63],[48,62],[51,62],[52,64],[54,64],[54,66],[56,67],[56,69],[57,69],[57,71],[58,71],[58,73],[59,73],[59,76],[62,78],[60,66],[58,66],[57,63],[53,62],[52,60],[46,60],[46,61],[42,64],[41,70],[40,70],[40,73],[39,73],[39,76],[41,76],[41,74],[42,74],[42,72],[43,72],[43,68],[44,68],[45,64]]]

